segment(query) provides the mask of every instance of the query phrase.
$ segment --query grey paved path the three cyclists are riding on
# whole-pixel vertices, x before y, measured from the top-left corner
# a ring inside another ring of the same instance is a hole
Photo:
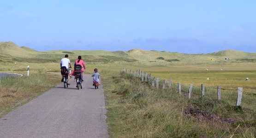
[[[103,89],[89,75],[83,89],[71,80],[0,118],[0,138],[107,138]]]

